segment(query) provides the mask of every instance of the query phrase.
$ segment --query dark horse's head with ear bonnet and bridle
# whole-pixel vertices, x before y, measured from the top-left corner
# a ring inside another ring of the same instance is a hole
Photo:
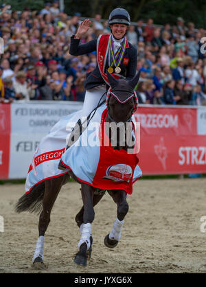
[[[106,72],[110,89],[107,93],[108,118],[111,122],[130,122],[133,112],[137,109],[137,95],[134,92],[139,81],[140,72],[130,81],[116,80]]]

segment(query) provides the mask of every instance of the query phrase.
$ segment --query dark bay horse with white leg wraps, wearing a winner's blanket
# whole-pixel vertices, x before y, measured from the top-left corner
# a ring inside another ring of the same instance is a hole
[[[105,122],[112,123],[130,123],[133,115],[135,106],[137,106],[137,99],[135,97],[134,89],[139,80],[139,73],[130,81],[116,80],[113,76],[107,73],[108,80],[111,88],[107,95],[107,116]],[[133,135],[130,131],[130,141],[124,141],[122,144],[119,141],[120,138],[119,130],[117,130],[117,141],[115,145],[112,144],[112,148],[115,150],[127,150],[132,145]],[[111,130],[108,131],[108,137],[112,143]],[[128,137],[128,133],[127,133]],[[59,168],[64,168],[63,165],[59,165]],[[38,185],[34,186],[32,191],[28,194],[24,194],[19,201],[16,203],[16,212],[30,211],[40,213],[38,232],[39,237],[36,242],[36,249],[33,257],[34,268],[45,268],[44,264],[44,236],[45,231],[50,222],[50,214],[52,207],[54,206],[55,200],[60,192],[62,185],[69,181],[69,177],[72,177],[78,183],[81,184],[81,193],[83,206],[82,209],[76,215],[76,223],[80,228],[81,238],[78,244],[79,251],[76,253],[74,262],[76,264],[86,266],[87,259],[91,257],[91,246],[93,244],[93,237],[91,235],[91,223],[95,218],[95,212],[93,207],[99,203],[106,190],[100,190],[86,183],[82,183],[76,177],[72,171],[67,172],[54,179],[47,179]],[[108,194],[113,198],[117,204],[117,218],[114,222],[113,229],[104,238],[104,244],[113,248],[117,246],[121,230],[124,222],[124,218],[128,212],[128,203],[126,201],[125,190],[107,190]]]

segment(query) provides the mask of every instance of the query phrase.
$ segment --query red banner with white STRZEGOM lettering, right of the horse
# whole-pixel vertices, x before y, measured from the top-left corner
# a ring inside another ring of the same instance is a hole
[[[196,108],[141,106],[135,118],[143,174],[206,173],[206,126],[205,135],[198,135]]]

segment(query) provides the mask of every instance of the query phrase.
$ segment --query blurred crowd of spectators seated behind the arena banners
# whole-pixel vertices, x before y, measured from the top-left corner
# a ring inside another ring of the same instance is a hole
[[[84,80],[95,68],[96,52],[78,57],[69,54],[70,37],[76,33],[80,16],[61,12],[56,0],[41,11],[1,8],[1,102],[84,101]],[[109,33],[107,22],[97,14],[81,43]],[[137,48],[137,70],[141,71],[135,88],[139,103],[206,104],[206,48],[201,43],[205,36],[203,28],[186,25],[181,17],[176,25],[160,27],[152,19],[130,25],[127,38]]]

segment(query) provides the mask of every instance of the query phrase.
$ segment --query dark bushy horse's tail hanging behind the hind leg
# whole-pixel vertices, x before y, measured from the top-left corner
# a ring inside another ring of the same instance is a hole
[[[22,211],[35,212],[40,214],[43,209],[43,196],[45,194],[45,183],[39,183],[34,186],[28,193],[19,198],[15,206],[15,211],[20,213]]]

